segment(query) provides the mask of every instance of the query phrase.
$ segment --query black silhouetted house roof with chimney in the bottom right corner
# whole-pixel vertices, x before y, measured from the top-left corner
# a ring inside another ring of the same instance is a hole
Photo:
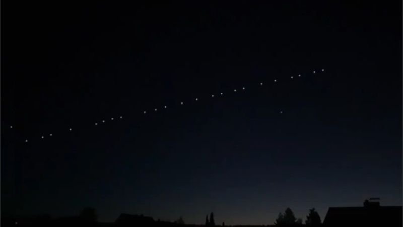
[[[379,198],[365,200],[361,207],[329,207],[326,226],[402,226],[401,206],[380,206]]]

